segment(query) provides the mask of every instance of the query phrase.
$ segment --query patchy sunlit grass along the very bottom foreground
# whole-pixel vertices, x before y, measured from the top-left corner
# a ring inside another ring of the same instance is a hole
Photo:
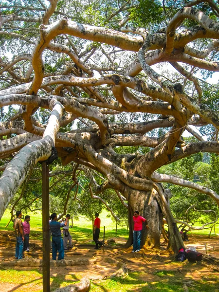
[[[140,279],[143,273],[129,273],[127,277],[113,278],[102,281],[91,282],[90,292],[184,292],[183,284],[179,280],[179,273],[176,271],[160,271],[155,273],[161,278],[160,281],[146,282]],[[203,280],[195,281],[194,287],[189,287],[189,292],[219,292],[217,275],[212,274],[213,282]],[[24,284],[31,286],[31,292],[42,292],[42,272],[38,270],[18,271],[0,270],[0,283],[15,283],[16,292],[24,291]],[[63,273],[51,275],[51,291],[58,287],[76,283],[80,280],[77,274],[68,274],[63,269]]]

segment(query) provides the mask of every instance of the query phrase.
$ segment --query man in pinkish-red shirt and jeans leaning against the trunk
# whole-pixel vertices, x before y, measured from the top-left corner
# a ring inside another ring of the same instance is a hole
[[[134,231],[133,231],[133,250],[132,253],[137,253],[141,251],[140,244],[141,244],[141,237],[142,237],[142,229],[143,229],[143,222],[147,223],[147,220],[139,215],[138,211],[134,211]]]

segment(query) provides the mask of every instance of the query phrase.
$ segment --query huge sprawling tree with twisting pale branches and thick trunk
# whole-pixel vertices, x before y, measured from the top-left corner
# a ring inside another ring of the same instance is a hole
[[[176,251],[183,241],[162,183],[219,205],[214,190],[157,171],[219,152],[218,89],[205,81],[219,71],[217,1],[49,2],[0,5],[0,217],[55,147],[63,165],[84,170],[94,198],[111,188],[128,201],[130,230],[134,209],[146,217],[147,246],[159,247],[165,218]],[[193,126],[215,134],[205,141]],[[195,140],[185,143],[185,130]],[[141,151],[121,154],[118,146]]]

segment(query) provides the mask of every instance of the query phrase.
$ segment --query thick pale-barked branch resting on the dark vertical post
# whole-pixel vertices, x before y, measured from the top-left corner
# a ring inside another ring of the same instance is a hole
[[[30,169],[40,160],[46,160],[51,155],[55,136],[59,128],[63,107],[57,101],[51,100],[52,110],[48,126],[43,139],[24,146],[11,160],[0,177],[0,218],[2,217],[9,201],[13,198],[18,187],[23,183]]]

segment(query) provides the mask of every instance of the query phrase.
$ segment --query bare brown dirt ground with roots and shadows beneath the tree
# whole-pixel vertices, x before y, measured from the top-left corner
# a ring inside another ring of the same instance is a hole
[[[115,243],[125,243],[125,238],[114,238]],[[219,237],[201,235],[190,235],[190,241],[186,242],[186,246],[195,246],[196,250],[206,255],[205,243],[207,246],[207,255],[211,255],[219,258]],[[120,240],[120,241],[119,241]],[[42,242],[40,240],[30,239],[30,253],[25,253],[26,257],[42,258]],[[16,241],[12,232],[1,231],[0,232],[0,269],[6,269],[7,265],[1,266],[2,262],[10,262],[14,260]],[[162,245],[165,247],[165,244]],[[219,291],[219,263],[207,262],[205,260],[198,264],[191,264],[187,261],[178,263],[174,261],[174,256],[167,254],[165,251],[152,251],[142,249],[141,252],[132,254],[132,248],[123,249],[121,247],[106,244],[104,251],[94,250],[94,245],[91,244],[79,244],[75,243],[75,247],[65,253],[66,259],[86,258],[93,260],[94,263],[90,265],[78,265],[67,267],[53,267],[51,268],[51,277],[60,274],[60,270],[63,274],[72,276],[72,281],[78,281],[81,277],[86,276],[92,281],[98,281],[102,278],[109,278],[111,274],[118,270],[115,263],[110,263],[109,258],[113,258],[119,262],[123,262],[127,265],[129,272],[140,272],[139,279],[145,282],[160,281],[161,278],[156,272],[159,271],[178,271],[181,278],[185,279],[205,279],[210,283],[215,283],[215,291]],[[52,258],[52,255],[51,255]],[[11,269],[11,268],[8,268]],[[28,271],[33,270],[33,267],[15,267],[13,269]],[[38,268],[41,273],[42,268]],[[214,273],[214,279],[211,278],[211,274]],[[37,291],[42,289],[41,279],[39,277],[39,283],[35,284],[34,288]],[[214,282],[215,281],[215,282]],[[36,286],[38,285],[38,286]],[[20,285],[15,283],[2,283],[0,279],[0,292],[16,292],[20,289]],[[22,284],[22,291],[27,289],[33,289],[33,283]],[[20,290],[19,290],[20,291]],[[140,290],[139,290],[140,291]],[[201,291],[200,291],[201,292]]]

